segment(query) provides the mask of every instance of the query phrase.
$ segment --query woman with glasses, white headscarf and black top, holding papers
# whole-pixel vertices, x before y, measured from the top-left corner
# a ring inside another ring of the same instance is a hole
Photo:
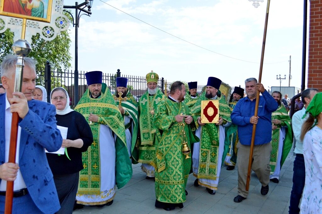
[[[71,214],[78,188],[79,172],[83,169],[82,152],[93,142],[90,126],[84,116],[67,105],[69,96],[64,88],[54,88],[50,94],[51,103],[56,107],[57,126],[67,127],[67,139],[63,139],[63,155],[47,153],[49,166],[61,204],[57,213]],[[87,167],[87,166],[85,166]]]

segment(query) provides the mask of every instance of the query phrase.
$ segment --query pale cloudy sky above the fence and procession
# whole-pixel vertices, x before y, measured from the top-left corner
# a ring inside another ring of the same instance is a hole
[[[259,77],[266,8],[267,0],[258,8],[249,0],[94,0],[92,15],[80,20],[78,70],[137,76],[153,70],[168,82],[198,85],[213,76],[243,87],[245,79]],[[74,59],[75,29],[69,32]],[[303,1],[270,1],[261,79],[266,89],[279,87],[279,74],[287,78],[281,86],[289,86],[290,56],[290,86],[301,87],[302,37]]]

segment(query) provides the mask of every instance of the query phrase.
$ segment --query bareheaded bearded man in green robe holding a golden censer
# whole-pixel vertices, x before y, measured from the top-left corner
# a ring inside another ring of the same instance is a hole
[[[162,100],[155,110],[154,126],[156,134],[155,206],[167,211],[175,207],[183,208],[186,200],[185,186],[191,167],[190,143],[199,139],[191,132],[196,126],[189,115],[189,108],[182,102],[185,85],[175,81],[170,95]]]

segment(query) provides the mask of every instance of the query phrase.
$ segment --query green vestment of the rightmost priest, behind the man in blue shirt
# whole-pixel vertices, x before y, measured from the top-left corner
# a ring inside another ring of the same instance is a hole
[[[282,167],[289,151],[291,150],[293,139],[292,139],[292,127],[291,127],[291,118],[286,111],[286,108],[280,105],[276,111],[272,113],[272,120],[278,119],[281,121],[281,124],[277,125],[277,129],[272,131],[272,152],[270,153],[270,169],[271,172],[274,172],[276,161],[278,157],[278,148],[279,148],[279,138],[282,137],[279,135],[279,130],[282,126],[286,126],[285,138],[283,141],[283,150],[282,157],[280,161],[280,167]]]

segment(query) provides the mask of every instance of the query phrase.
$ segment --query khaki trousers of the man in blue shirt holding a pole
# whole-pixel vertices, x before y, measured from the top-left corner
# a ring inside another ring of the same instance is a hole
[[[237,143],[237,166],[238,166],[238,195],[247,198],[246,191],[247,171],[249,162],[249,152],[251,146]],[[253,162],[251,169],[256,173],[262,186],[267,186],[270,182],[270,153],[272,144],[254,145]]]

